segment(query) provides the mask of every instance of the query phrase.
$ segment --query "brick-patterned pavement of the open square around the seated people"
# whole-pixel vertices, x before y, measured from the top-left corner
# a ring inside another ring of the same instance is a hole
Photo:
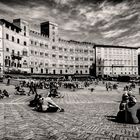
[[[32,96],[14,95],[0,100],[0,140],[140,140],[140,125],[113,121],[118,112],[122,87],[105,91],[96,86],[74,91],[62,89],[64,98],[55,101],[65,109],[59,113],[39,113],[28,106]],[[39,90],[46,94],[46,90]],[[138,87],[133,90],[139,101]]]

